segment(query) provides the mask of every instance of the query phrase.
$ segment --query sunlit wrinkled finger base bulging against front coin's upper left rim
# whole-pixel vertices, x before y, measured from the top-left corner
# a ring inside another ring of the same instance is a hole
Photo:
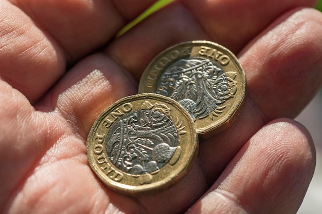
[[[58,110],[84,139],[98,114],[120,98],[137,93],[133,77],[104,54],[77,64],[35,107]]]

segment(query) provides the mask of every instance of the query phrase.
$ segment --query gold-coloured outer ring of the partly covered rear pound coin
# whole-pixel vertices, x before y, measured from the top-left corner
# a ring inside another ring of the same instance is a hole
[[[208,115],[195,119],[196,133],[202,138],[227,129],[240,113],[244,97],[246,78],[237,57],[227,48],[209,41],[191,41],[174,45],[160,54],[150,63],[142,74],[139,93],[157,93],[158,83],[163,73],[175,62],[182,59],[208,59],[216,63],[225,72],[230,94],[224,103]]]

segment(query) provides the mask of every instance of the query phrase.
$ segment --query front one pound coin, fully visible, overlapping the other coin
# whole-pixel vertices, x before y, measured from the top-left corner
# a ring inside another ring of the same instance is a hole
[[[87,155],[99,179],[128,194],[173,185],[190,169],[198,138],[189,113],[158,94],[138,94],[105,109],[87,138]]]

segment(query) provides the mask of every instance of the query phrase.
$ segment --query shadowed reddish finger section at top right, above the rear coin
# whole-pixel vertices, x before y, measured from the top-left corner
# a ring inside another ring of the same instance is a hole
[[[183,2],[205,32],[210,35],[212,41],[234,52],[238,52],[245,43],[251,41],[275,17],[285,11],[301,6],[314,7],[316,4],[315,0],[282,2],[184,0]]]

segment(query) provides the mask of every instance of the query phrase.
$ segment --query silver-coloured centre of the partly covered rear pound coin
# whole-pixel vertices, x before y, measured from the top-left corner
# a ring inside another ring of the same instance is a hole
[[[225,102],[228,91],[225,72],[208,59],[181,59],[160,77],[157,94],[179,102],[192,116],[203,118]]]

